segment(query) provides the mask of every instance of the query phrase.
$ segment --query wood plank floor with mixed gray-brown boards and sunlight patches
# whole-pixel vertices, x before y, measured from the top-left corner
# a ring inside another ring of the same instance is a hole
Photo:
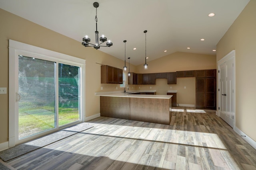
[[[175,107],[170,125],[98,117],[7,163],[30,170],[256,170],[256,150],[215,112]]]

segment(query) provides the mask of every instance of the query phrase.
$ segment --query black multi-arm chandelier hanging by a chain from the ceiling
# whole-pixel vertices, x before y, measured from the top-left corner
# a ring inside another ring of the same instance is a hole
[[[107,41],[107,37],[105,37],[105,35],[103,35],[103,34],[100,37],[100,41],[102,43],[99,43],[99,32],[98,32],[98,29],[97,29],[97,22],[98,22],[97,8],[99,7],[99,3],[94,2],[93,6],[96,8],[96,16],[95,16],[95,21],[96,21],[96,31],[95,31],[96,43],[95,44],[89,43],[91,41],[91,39],[89,38],[88,35],[85,35],[84,38],[83,38],[82,45],[84,45],[84,47],[94,47],[94,49],[96,49],[96,50],[99,49],[100,47],[111,47],[113,45],[113,43],[110,40],[108,40],[108,42],[106,43],[106,46],[101,45],[102,43]]]

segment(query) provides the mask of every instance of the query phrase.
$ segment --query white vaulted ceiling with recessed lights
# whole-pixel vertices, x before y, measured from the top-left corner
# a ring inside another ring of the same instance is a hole
[[[144,30],[148,30],[147,61],[177,51],[216,55],[212,49],[249,1],[0,0],[0,8],[79,42],[86,32],[95,43],[93,3],[98,2],[98,31],[113,42],[112,47],[98,50],[124,60],[123,41],[127,40],[126,59],[138,65],[145,62]],[[209,13],[215,16],[208,17]]]

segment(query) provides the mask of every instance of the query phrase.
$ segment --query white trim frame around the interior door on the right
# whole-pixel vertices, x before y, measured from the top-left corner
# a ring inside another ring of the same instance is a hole
[[[234,58],[234,67],[233,67],[233,73],[234,73],[234,119],[233,119],[233,129],[236,127],[236,51],[232,50],[230,51],[225,57],[220,59],[218,63],[218,108],[220,107],[220,65],[227,62],[228,60]],[[220,117],[220,109],[216,112],[216,114]]]

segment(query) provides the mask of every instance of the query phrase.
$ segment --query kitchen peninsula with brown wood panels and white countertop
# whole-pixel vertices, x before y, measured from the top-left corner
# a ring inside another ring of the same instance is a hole
[[[100,96],[100,115],[119,119],[170,125],[172,95],[136,92],[96,92]]]

